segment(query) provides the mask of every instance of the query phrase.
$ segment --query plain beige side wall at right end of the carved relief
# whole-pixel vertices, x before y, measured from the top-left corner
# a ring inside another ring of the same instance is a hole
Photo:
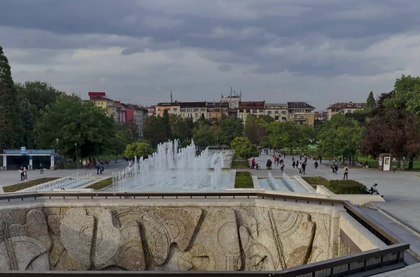
[[[360,250],[385,249],[387,246],[380,239],[360,225],[345,211],[339,213],[339,228],[353,241]]]

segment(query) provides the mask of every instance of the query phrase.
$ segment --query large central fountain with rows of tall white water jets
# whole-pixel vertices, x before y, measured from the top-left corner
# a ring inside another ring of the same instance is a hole
[[[194,142],[179,149],[179,141],[158,145],[144,158],[134,158],[131,167],[113,172],[108,190],[221,190],[227,188],[221,152],[205,149],[197,156]]]

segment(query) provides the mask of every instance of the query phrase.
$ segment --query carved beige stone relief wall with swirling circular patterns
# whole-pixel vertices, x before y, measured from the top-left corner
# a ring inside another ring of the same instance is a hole
[[[331,224],[266,207],[13,209],[0,270],[281,270],[336,256]]]

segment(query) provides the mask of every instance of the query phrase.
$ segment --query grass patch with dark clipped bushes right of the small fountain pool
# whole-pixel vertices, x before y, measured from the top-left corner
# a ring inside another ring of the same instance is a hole
[[[365,194],[366,186],[354,180],[330,180],[323,177],[302,177],[309,185],[325,186],[335,194]]]

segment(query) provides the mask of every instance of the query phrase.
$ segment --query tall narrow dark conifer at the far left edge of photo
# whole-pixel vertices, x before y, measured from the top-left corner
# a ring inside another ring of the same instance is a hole
[[[13,84],[8,59],[0,47],[0,149],[17,148],[22,142],[22,119],[18,94]]]

